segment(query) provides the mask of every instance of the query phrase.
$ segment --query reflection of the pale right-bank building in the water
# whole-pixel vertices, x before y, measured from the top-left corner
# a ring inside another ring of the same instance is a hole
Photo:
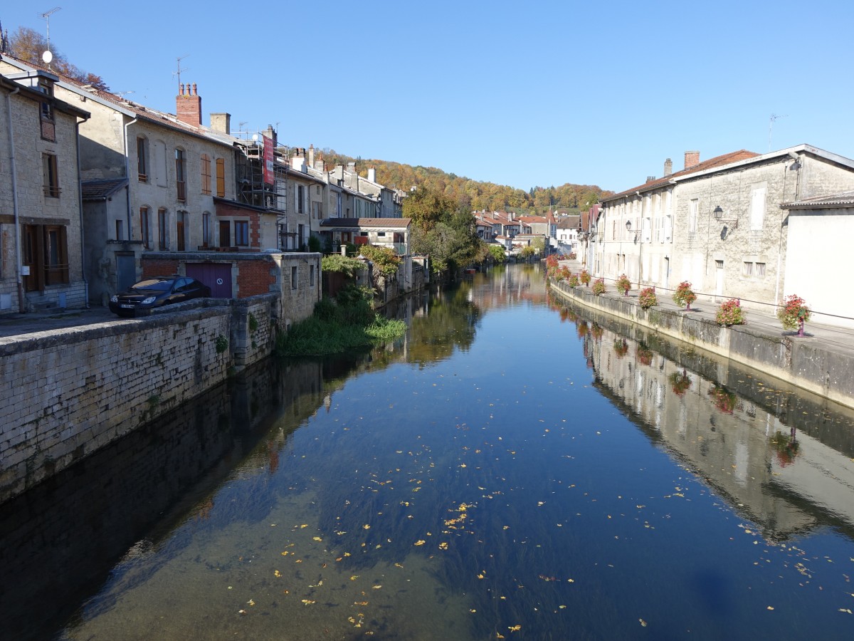
[[[597,329],[600,338],[584,340],[600,389],[766,538],[822,525],[854,533],[849,456],[644,344]]]

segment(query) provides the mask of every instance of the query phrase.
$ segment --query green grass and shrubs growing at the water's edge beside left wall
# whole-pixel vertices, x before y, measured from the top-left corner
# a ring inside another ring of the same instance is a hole
[[[403,321],[390,321],[371,308],[373,293],[348,288],[336,300],[324,298],[314,314],[290,326],[276,338],[278,356],[329,356],[370,348],[400,338],[407,332]]]

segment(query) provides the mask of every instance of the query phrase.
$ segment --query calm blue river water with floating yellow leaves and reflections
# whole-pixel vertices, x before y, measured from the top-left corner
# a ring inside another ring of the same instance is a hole
[[[854,419],[537,266],[270,362],[0,506],[0,632],[854,638]]]

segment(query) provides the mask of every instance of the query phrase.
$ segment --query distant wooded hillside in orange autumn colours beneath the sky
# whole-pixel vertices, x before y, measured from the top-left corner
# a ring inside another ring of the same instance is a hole
[[[600,189],[597,185],[572,185],[559,187],[532,187],[529,191],[514,189],[507,185],[471,180],[435,167],[412,167],[400,162],[365,160],[322,150],[327,168],[336,164],[356,163],[356,171],[366,176],[369,168],[377,170],[377,182],[392,189],[410,191],[412,187],[424,187],[428,191],[442,194],[453,200],[462,209],[491,211],[514,211],[518,214],[545,214],[549,209],[589,209],[600,197],[613,191]]]

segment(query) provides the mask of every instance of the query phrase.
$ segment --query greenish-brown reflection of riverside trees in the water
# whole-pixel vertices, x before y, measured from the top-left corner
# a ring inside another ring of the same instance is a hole
[[[424,366],[453,354],[454,348],[467,351],[475,339],[481,310],[469,298],[471,284],[461,285],[436,297],[430,313],[412,319],[407,360]]]

